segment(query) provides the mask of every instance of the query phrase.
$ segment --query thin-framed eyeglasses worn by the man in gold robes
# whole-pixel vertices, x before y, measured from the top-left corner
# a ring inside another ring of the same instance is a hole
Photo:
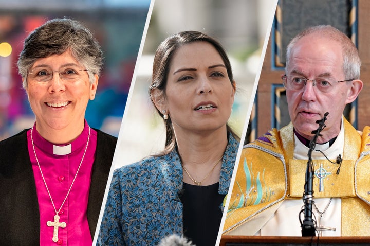
[[[317,78],[315,80],[312,79],[307,79],[305,77],[292,77],[288,78],[287,75],[282,76],[283,80],[283,85],[285,89],[287,90],[292,90],[292,91],[300,91],[303,89],[303,87],[306,85],[307,81],[312,82],[312,86],[316,86],[319,91],[321,92],[328,92],[331,89],[332,83],[341,83],[341,82],[347,82],[347,81],[352,81],[355,79],[347,79],[347,80],[342,80],[342,81],[332,81],[329,82],[327,78]]]

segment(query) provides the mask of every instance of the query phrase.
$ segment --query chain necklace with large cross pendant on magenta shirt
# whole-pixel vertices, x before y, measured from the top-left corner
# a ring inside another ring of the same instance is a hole
[[[85,151],[84,151],[84,153],[83,153],[83,155],[82,155],[82,159],[81,159],[80,165],[79,165],[79,167],[78,167],[78,169],[77,169],[77,171],[76,171],[75,178],[73,178],[73,181],[72,181],[72,183],[71,183],[71,186],[70,186],[70,187],[69,187],[69,189],[68,189],[67,195],[65,196],[65,198],[64,198],[64,200],[63,200],[63,202],[62,202],[62,205],[60,206],[59,210],[57,211],[57,208],[55,208],[55,205],[54,205],[54,201],[53,201],[53,200],[52,200],[52,198],[51,198],[51,194],[50,194],[49,188],[48,188],[48,186],[47,186],[47,184],[46,184],[46,181],[45,181],[45,178],[44,178],[44,174],[43,174],[43,172],[42,172],[42,170],[41,170],[41,166],[40,166],[40,163],[39,163],[39,159],[38,159],[38,157],[37,157],[37,155],[36,155],[35,147],[34,147],[34,144],[33,144],[33,137],[32,137],[33,127],[32,127],[32,129],[31,129],[31,142],[32,142],[33,153],[34,153],[34,155],[35,155],[36,162],[37,162],[37,164],[38,164],[38,166],[39,166],[40,173],[41,173],[41,177],[43,178],[43,181],[44,181],[44,184],[45,184],[46,190],[47,190],[47,192],[48,192],[48,194],[49,194],[49,198],[50,198],[51,204],[53,205],[53,208],[54,208],[54,211],[55,211],[54,222],[52,222],[52,221],[50,221],[50,220],[49,220],[49,221],[46,223],[46,224],[47,224],[47,226],[53,226],[53,227],[54,227],[54,231],[53,231],[53,238],[52,238],[52,241],[53,241],[53,242],[58,242],[58,240],[59,240],[59,239],[58,239],[58,228],[59,228],[59,227],[65,228],[65,227],[67,226],[66,222],[59,222],[60,216],[59,216],[58,214],[59,214],[60,210],[62,209],[62,207],[63,207],[63,205],[64,205],[64,202],[67,200],[67,197],[68,197],[68,195],[69,195],[69,192],[70,192],[70,190],[72,189],[72,186],[73,186],[73,184],[75,183],[75,180],[76,180],[76,178],[77,178],[77,174],[78,174],[78,172],[79,172],[79,170],[80,170],[80,167],[81,167],[82,161],[83,161],[83,159],[84,159],[84,157],[85,157],[86,150],[87,150],[87,146],[88,146],[88,143],[89,143],[89,140],[90,140],[90,132],[91,132],[91,128],[90,128],[90,126],[89,126],[89,134],[88,134],[88,137],[87,137],[86,148],[85,148]]]

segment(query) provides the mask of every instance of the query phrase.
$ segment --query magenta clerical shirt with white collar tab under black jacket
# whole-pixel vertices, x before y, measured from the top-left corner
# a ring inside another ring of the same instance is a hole
[[[36,156],[40,162],[46,184],[57,211],[61,207],[68,189],[75,178],[77,169],[85,152],[89,126],[85,127],[70,145],[53,145],[45,140],[33,126],[32,138]],[[86,154],[77,174],[75,183],[59,212],[59,222],[66,227],[58,227],[58,241],[53,242],[54,227],[47,222],[54,222],[55,211],[45,187],[31,142],[31,130],[27,132],[28,153],[30,156],[36,184],[40,209],[40,245],[89,245],[93,243],[87,221],[87,202],[91,182],[91,173],[95,160],[97,132],[90,130],[90,139]]]

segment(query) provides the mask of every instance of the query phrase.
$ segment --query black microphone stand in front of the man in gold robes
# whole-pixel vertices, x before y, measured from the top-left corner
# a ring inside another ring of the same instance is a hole
[[[319,128],[315,131],[312,131],[313,136],[312,140],[310,141],[310,148],[308,150],[308,162],[307,162],[307,169],[306,169],[306,182],[305,182],[305,191],[303,194],[303,202],[304,202],[304,220],[301,223],[302,228],[302,236],[303,237],[314,237],[316,231],[316,222],[312,219],[312,198],[313,198],[313,174],[315,170],[313,169],[312,163],[312,151],[315,150],[316,141],[319,136],[322,136],[320,132],[326,127],[324,122],[326,120],[326,116],[328,116],[328,112],[324,114],[324,117],[321,120],[317,120],[316,123],[319,124]]]

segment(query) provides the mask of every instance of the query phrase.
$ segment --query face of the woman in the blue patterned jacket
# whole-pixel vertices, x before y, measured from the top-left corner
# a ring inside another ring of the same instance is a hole
[[[218,51],[208,42],[193,42],[173,55],[165,95],[156,106],[167,111],[175,133],[226,132],[234,93]]]

